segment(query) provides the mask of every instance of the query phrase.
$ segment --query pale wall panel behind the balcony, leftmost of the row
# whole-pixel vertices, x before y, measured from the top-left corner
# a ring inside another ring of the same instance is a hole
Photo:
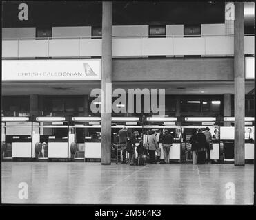
[[[2,28],[2,39],[35,38],[36,28]]]

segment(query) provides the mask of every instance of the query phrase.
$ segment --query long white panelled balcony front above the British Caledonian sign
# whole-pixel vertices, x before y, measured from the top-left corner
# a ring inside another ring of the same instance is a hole
[[[254,54],[254,34],[244,36],[244,53]],[[233,35],[113,36],[112,56],[233,56]],[[3,58],[101,56],[101,38],[3,39]]]

